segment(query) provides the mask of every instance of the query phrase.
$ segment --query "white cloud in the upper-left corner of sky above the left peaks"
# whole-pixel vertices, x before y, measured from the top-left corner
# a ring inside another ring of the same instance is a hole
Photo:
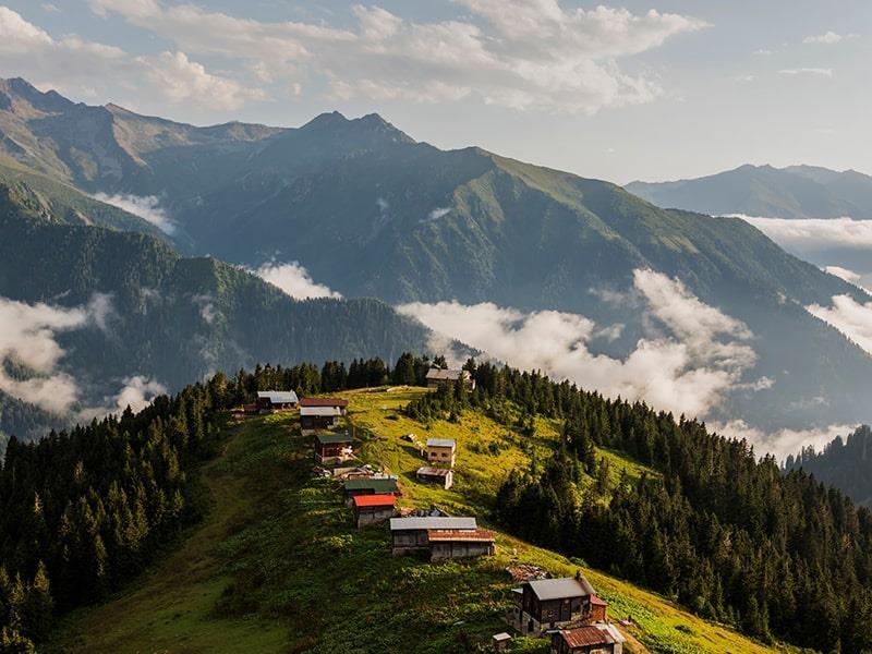
[[[40,87],[76,95],[82,89],[89,96],[123,93],[146,102],[185,101],[209,110],[237,109],[265,97],[262,89],[208,73],[184,52],[134,56],[75,34],[55,38],[7,7],[0,7],[0,74],[23,75]]]

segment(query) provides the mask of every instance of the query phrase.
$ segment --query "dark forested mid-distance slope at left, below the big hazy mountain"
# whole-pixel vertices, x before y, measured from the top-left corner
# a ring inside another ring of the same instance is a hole
[[[17,378],[50,373],[65,388],[74,383],[77,404],[100,407],[136,378],[179,388],[185,379],[259,361],[351,361],[425,349],[428,331],[377,300],[296,301],[242,269],[181,257],[149,235],[63,223],[31,197],[19,185],[0,185],[0,299],[23,303],[7,304],[11,316],[36,313],[39,322],[48,314],[48,329],[60,312],[56,322],[63,325],[52,342],[62,356],[53,367],[20,370]],[[25,305],[35,308],[27,313]],[[4,365],[34,347],[3,344],[11,348],[3,350],[10,358]],[[14,385],[15,375],[3,378]],[[3,431],[12,426],[0,423]]]

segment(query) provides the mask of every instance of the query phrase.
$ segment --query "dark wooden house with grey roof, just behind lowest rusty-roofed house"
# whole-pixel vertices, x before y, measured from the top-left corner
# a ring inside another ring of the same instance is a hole
[[[538,635],[570,622],[591,620],[593,586],[580,573],[561,579],[535,579],[513,590],[509,622],[524,634]],[[604,615],[604,614],[603,614]]]

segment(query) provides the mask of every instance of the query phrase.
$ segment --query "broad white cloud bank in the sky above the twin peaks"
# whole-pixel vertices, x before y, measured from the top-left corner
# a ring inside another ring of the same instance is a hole
[[[488,105],[594,113],[647,102],[655,82],[628,74],[622,58],[707,27],[651,10],[564,8],[557,0],[457,0],[457,20],[413,21],[378,7],[352,8],[349,27],[262,22],[194,4],[92,0],[160,35],[180,51],[242,61],[263,81],[328,97],[412,102],[476,97]]]

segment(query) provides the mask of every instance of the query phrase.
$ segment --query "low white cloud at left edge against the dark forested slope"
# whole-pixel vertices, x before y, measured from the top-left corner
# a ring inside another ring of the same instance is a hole
[[[55,340],[61,331],[80,329],[88,323],[83,308],[25,304],[0,298],[0,390],[52,413],[62,413],[77,400],[73,377],[59,372],[64,355]],[[7,371],[12,362],[31,372],[21,379]]]

